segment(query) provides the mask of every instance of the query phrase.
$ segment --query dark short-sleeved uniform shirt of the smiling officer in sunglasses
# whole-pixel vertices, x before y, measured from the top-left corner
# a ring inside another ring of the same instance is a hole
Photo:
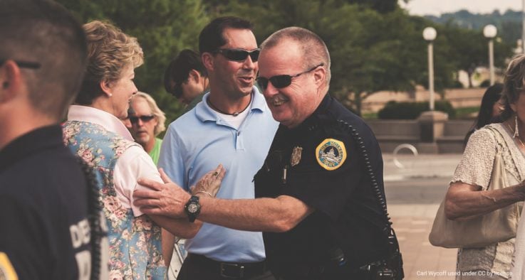
[[[264,232],[274,274],[330,262],[337,248],[352,269],[385,259],[382,210],[358,147],[337,120],[358,130],[383,190],[383,158],[373,132],[333,97],[327,94],[299,126],[279,126],[255,176],[256,197],[290,195],[316,211],[289,232]]]

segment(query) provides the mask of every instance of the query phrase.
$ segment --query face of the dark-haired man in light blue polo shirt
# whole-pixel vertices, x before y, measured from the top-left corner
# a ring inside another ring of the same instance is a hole
[[[223,36],[227,43],[221,49],[237,48],[242,50],[254,50],[257,48],[257,41],[254,33],[249,29],[224,29]],[[255,77],[259,66],[257,62],[248,56],[243,61],[228,60],[222,53],[211,55],[207,53],[210,63],[207,64],[209,70],[212,92],[220,90],[232,98],[239,98],[249,95],[254,86]]]

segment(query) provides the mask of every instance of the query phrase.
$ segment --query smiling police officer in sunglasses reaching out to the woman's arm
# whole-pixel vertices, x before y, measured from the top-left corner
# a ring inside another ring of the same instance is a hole
[[[276,279],[402,279],[381,151],[363,120],[328,95],[326,45],[291,27],[261,48],[257,80],[281,124],[254,177],[256,199],[196,200],[172,183],[145,181],[154,190],[135,191],[136,204],[152,214],[264,232]]]

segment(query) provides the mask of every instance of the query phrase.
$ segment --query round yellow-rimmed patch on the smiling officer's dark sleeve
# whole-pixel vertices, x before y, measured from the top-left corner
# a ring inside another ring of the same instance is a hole
[[[316,158],[322,168],[336,170],[346,160],[345,144],[336,139],[324,139],[316,148]]]

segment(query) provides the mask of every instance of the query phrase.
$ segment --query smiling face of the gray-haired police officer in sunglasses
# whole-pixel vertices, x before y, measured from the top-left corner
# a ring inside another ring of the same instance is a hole
[[[316,63],[320,64],[321,61]],[[276,75],[296,75],[316,65],[305,65],[303,51],[298,43],[284,39],[271,48],[264,48],[259,57],[259,77]],[[277,122],[288,127],[301,124],[317,108],[324,97],[321,90],[325,77],[324,68],[318,67],[298,77],[293,77],[291,85],[276,88],[269,82],[263,94],[271,114]]]

